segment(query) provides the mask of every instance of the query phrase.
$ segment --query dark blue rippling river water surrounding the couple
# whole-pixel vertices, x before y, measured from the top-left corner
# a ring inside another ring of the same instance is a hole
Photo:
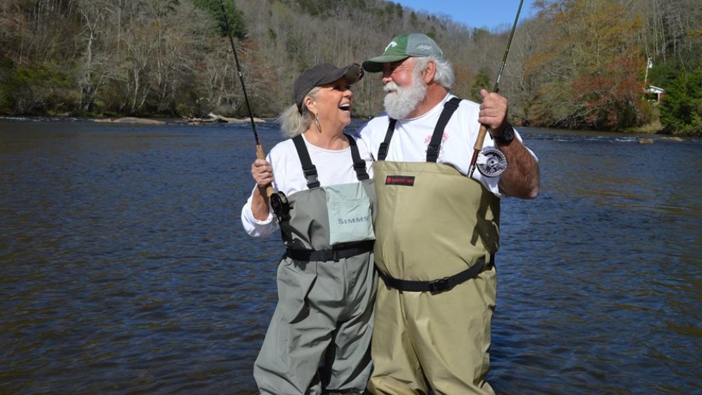
[[[523,132],[542,191],[503,202],[493,387],[701,391],[702,140]],[[253,145],[0,120],[0,393],[255,394],[282,246],[241,230]]]

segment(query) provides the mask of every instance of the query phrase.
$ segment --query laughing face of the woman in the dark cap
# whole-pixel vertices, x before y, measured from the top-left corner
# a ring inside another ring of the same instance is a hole
[[[345,79],[319,86],[319,91],[312,98],[312,113],[319,116],[319,122],[331,125],[334,130],[342,130],[351,123],[351,102],[353,92]]]

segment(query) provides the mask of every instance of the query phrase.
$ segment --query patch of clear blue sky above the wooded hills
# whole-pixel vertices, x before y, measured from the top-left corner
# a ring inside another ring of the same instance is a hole
[[[501,30],[512,28],[519,8],[519,0],[393,0],[404,7],[415,11],[425,11],[432,14],[444,13],[450,15],[456,22],[463,22],[472,27],[483,27],[489,30],[500,27]],[[534,0],[524,0],[519,20],[531,16],[531,3]]]

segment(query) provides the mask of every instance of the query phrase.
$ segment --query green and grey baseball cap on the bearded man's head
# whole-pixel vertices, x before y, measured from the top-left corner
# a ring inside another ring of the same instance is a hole
[[[383,55],[363,62],[363,68],[369,73],[382,72],[383,63],[399,62],[410,56],[418,56],[420,58],[432,56],[438,60],[444,59],[444,53],[441,48],[437,46],[437,43],[430,36],[420,33],[400,34],[395,36],[388,46],[385,47]]]

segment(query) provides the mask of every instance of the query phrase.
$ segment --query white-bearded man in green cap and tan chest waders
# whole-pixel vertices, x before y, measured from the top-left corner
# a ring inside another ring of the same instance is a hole
[[[386,112],[359,131],[376,160],[373,394],[493,394],[500,198],[534,199],[536,156],[507,121],[508,103],[455,98],[453,70],[424,34],[396,36],[363,63],[382,72]],[[442,115],[443,114],[443,115]],[[468,177],[480,125],[507,159],[494,178]],[[430,389],[428,388],[430,387]]]

